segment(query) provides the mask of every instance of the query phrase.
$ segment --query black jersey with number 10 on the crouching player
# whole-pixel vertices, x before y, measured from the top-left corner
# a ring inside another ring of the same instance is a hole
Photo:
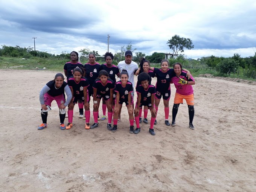
[[[110,98],[110,90],[115,88],[115,84],[111,79],[107,79],[106,85],[103,85],[100,79],[96,79],[93,88],[97,89],[97,95],[107,95]]]

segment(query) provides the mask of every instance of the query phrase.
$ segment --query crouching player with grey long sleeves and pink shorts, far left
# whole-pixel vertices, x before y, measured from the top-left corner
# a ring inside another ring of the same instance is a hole
[[[67,94],[67,101],[65,102],[65,93]],[[64,82],[64,76],[61,73],[57,73],[55,78],[52,81],[49,81],[39,94],[40,104],[41,104],[41,117],[43,123],[37,128],[42,130],[47,127],[47,108],[51,106],[53,100],[57,102],[59,107],[59,119],[60,119],[60,128],[61,130],[66,129],[64,125],[66,110],[65,108],[69,105],[69,102],[72,99],[72,93],[70,91],[69,85]]]

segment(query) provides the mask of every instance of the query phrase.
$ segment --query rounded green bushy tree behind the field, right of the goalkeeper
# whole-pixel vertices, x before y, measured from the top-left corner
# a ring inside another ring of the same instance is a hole
[[[234,70],[237,69],[238,66],[239,66],[239,63],[235,59],[224,58],[222,61],[220,61],[217,64],[216,70],[220,73],[227,74],[229,70],[230,72],[234,72]]]

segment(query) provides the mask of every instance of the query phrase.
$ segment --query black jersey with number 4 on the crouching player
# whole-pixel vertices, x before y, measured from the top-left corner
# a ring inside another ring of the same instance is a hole
[[[123,87],[122,82],[117,81],[115,91],[119,92],[119,101],[126,102],[128,101],[128,94],[133,92],[133,84],[127,81],[125,87]]]

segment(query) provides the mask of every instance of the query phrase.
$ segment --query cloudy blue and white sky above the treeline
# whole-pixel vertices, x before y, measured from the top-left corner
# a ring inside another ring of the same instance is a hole
[[[149,3],[152,2],[152,3]],[[120,51],[130,41],[136,52],[172,52],[175,34],[190,38],[188,58],[253,56],[255,0],[0,0],[0,45],[34,47],[60,54],[84,48]]]

